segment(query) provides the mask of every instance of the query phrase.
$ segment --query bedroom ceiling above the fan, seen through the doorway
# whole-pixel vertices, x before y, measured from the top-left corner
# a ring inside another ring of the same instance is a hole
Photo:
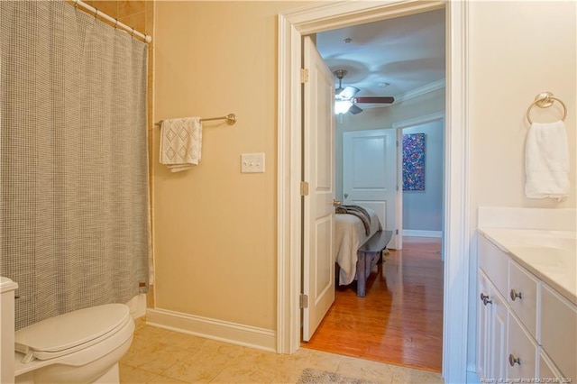
[[[316,48],[355,96],[399,96],[444,80],[444,9],[316,34]],[[345,40],[350,39],[350,42]],[[338,87],[338,78],[335,87]],[[362,109],[387,105],[359,105]]]

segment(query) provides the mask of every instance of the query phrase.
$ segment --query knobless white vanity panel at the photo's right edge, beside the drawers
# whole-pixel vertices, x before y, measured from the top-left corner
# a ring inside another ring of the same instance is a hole
[[[543,349],[563,377],[577,379],[577,307],[544,284],[541,310]]]

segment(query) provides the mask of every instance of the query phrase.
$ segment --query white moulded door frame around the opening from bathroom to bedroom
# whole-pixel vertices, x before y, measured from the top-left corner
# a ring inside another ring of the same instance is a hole
[[[444,336],[446,382],[467,378],[469,296],[468,3],[316,3],[279,14],[277,351],[300,344],[301,38],[305,34],[443,8],[446,14]],[[292,171],[291,171],[292,169]]]

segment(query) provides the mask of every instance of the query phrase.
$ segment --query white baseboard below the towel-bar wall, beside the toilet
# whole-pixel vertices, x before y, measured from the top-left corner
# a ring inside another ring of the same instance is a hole
[[[146,324],[223,343],[277,352],[277,334],[269,329],[240,325],[166,309],[149,308]]]

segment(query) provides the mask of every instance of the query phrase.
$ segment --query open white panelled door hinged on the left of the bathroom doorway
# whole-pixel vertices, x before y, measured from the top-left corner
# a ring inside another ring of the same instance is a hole
[[[309,341],[334,302],[334,76],[304,39],[303,340]]]

